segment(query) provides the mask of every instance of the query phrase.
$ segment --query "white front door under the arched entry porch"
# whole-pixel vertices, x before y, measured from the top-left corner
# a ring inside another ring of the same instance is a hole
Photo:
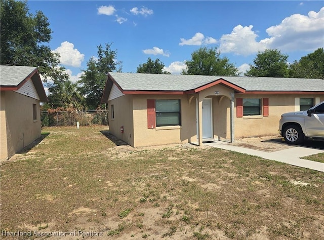
[[[198,104],[196,109],[197,138],[198,138]],[[212,138],[212,99],[203,100],[203,138]]]

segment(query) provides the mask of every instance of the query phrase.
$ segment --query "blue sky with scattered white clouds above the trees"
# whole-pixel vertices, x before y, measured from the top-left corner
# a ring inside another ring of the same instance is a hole
[[[324,45],[323,1],[28,1],[52,29],[50,47],[77,81],[81,69],[112,43],[123,72],[159,58],[179,74],[201,46],[218,47],[241,72],[258,51],[299,60]]]

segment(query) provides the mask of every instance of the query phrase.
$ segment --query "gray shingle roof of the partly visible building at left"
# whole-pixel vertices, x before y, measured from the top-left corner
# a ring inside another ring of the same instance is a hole
[[[0,85],[18,86],[35,69],[36,67],[1,65]]]

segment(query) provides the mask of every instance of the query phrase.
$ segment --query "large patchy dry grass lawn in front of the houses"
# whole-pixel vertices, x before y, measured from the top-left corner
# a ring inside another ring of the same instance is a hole
[[[43,131],[1,166],[1,238],[324,238],[323,173],[189,144],[133,149],[104,127]]]

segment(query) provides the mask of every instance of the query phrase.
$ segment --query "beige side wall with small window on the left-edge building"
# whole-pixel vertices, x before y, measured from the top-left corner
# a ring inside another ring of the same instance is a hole
[[[32,104],[37,107],[36,121]],[[1,135],[1,159],[11,157],[41,137],[39,101],[12,91],[1,92]]]

